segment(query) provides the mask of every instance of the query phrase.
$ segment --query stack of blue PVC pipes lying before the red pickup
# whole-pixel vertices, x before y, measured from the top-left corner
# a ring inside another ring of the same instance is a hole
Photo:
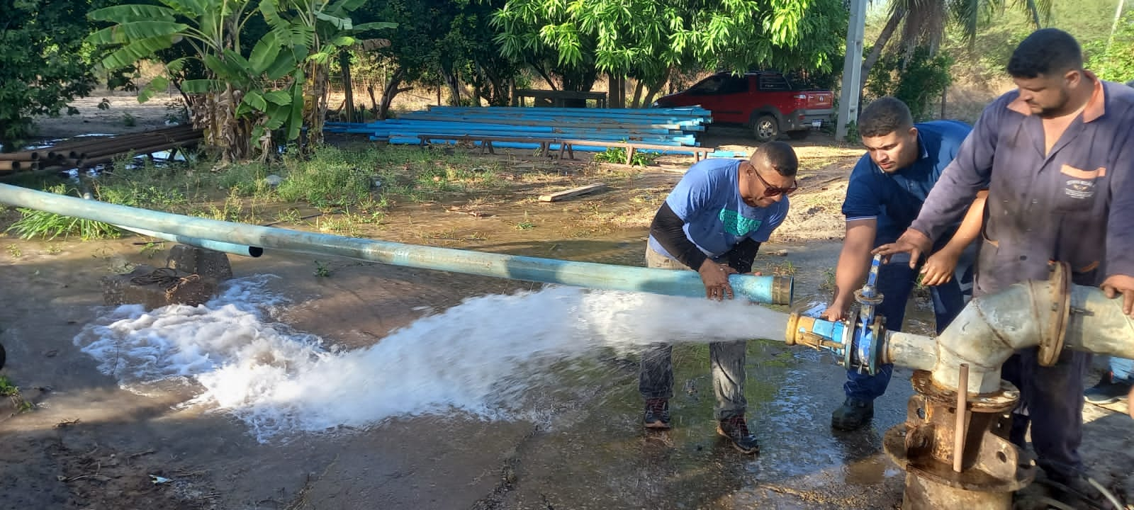
[[[327,122],[325,133],[370,135],[372,141],[391,144],[421,144],[421,135],[439,138],[431,143],[455,143],[443,136],[500,136],[532,138],[532,142],[493,142],[501,148],[538,148],[539,141],[585,139],[595,142],[641,142],[672,145],[672,150],[640,150],[667,154],[692,154],[682,146],[701,146],[697,134],[712,121],[709,110],[688,108],[513,108],[513,107],[430,107],[397,119],[373,122]],[[480,142],[474,142],[477,145]],[[551,150],[559,150],[552,143]],[[603,145],[573,144],[575,151],[601,152]],[[731,156],[731,153],[712,155]]]

